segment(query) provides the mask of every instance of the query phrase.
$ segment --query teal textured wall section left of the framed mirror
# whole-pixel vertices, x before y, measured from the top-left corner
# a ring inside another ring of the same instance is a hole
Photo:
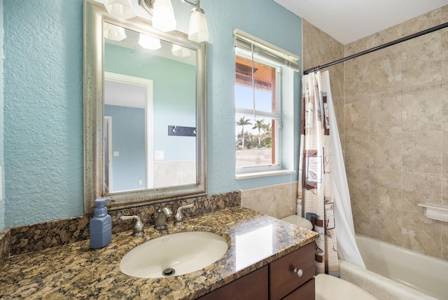
[[[83,214],[83,1],[3,2],[6,226]]]

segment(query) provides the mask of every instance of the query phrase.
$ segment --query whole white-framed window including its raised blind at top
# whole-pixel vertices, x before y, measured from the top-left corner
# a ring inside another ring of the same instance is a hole
[[[291,62],[278,48],[266,44],[235,31],[237,175],[281,170],[284,165],[281,157],[284,153],[282,139],[285,138],[281,134],[282,88],[293,89],[293,80],[283,81],[283,76],[293,76],[290,69],[298,70],[298,65],[297,59]],[[293,95],[290,91],[286,94]]]

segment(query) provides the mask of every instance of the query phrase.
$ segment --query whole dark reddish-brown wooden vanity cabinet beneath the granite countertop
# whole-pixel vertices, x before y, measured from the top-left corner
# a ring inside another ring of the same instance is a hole
[[[302,270],[302,275],[294,273]],[[234,280],[200,300],[313,300],[314,242]]]

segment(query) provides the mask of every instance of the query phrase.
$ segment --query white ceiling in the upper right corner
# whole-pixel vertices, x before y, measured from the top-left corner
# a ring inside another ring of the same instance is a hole
[[[344,45],[448,5],[448,0],[274,1]]]

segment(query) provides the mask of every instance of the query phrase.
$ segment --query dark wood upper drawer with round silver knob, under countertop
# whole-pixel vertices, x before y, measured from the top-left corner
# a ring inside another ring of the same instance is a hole
[[[269,264],[269,299],[281,299],[314,276],[314,242]],[[294,273],[302,270],[302,276]]]

